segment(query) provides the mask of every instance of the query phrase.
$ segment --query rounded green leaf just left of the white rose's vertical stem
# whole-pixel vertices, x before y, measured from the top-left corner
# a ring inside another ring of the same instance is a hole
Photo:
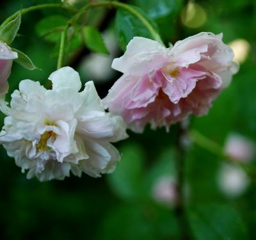
[[[68,19],[60,15],[45,17],[36,24],[36,34],[44,37],[49,42],[58,42],[61,31],[67,24]]]

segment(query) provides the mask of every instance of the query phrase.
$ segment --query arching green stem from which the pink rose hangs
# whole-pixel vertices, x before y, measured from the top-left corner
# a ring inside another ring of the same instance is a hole
[[[89,3],[86,6],[84,6],[79,11],[79,13],[77,13],[74,17],[72,17],[72,19],[70,19],[70,22],[72,22],[73,20],[79,19],[79,17],[81,17],[81,15],[83,15],[83,13],[86,12],[88,9],[100,7],[100,6],[114,6],[116,8],[122,8],[122,9],[127,10],[128,12],[132,13],[132,15],[134,15],[137,19],[139,19],[144,24],[145,28],[147,28],[148,31],[150,32],[150,34],[152,35],[152,38],[154,40],[156,40],[157,42],[159,42],[160,44],[164,45],[160,36],[158,35],[157,31],[152,27],[150,22],[148,22],[148,20],[145,19],[145,17],[143,17],[143,15],[141,15],[140,12],[136,11],[129,4],[125,4],[125,3],[119,3],[116,1],[104,1],[102,3]]]

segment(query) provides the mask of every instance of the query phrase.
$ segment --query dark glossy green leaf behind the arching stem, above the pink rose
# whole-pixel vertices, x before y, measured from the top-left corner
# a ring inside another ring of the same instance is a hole
[[[148,22],[150,22],[150,24],[155,29],[157,29],[156,24],[149,19],[146,13],[141,11],[140,8],[136,8],[134,6],[132,6],[132,8],[136,9],[137,12],[141,13],[141,15],[143,15],[143,17],[145,17],[145,19],[147,19]],[[134,36],[143,36],[145,38],[152,39],[152,34],[148,31],[147,28],[145,28],[145,25],[127,10],[117,10],[115,18],[115,29],[120,43],[120,47],[124,51],[127,44]]]

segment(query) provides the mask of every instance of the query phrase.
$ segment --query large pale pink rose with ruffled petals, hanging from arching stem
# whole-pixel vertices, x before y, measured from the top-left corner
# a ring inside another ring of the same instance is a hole
[[[133,131],[142,132],[178,122],[194,113],[204,115],[227,86],[238,65],[223,44],[222,34],[199,33],[177,42],[172,49],[154,40],[134,37],[124,56],[112,67],[124,75],[103,100]]]

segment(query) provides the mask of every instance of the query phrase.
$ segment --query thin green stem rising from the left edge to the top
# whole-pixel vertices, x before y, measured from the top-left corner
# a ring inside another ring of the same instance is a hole
[[[36,6],[29,6],[28,8],[24,8],[22,10],[19,10],[19,11],[13,13],[13,15],[10,15],[10,17],[8,17],[6,20],[4,20],[3,24],[1,24],[1,28],[3,28],[3,26],[8,24],[8,22],[15,19],[15,17],[17,17],[17,15],[19,13],[21,15],[24,15],[28,12],[33,12],[35,10],[40,10],[40,9],[44,9],[44,8],[64,8],[64,9],[70,10],[69,8],[66,8],[65,6],[63,6],[63,4],[60,4],[60,3],[45,3],[45,4],[39,4]]]

